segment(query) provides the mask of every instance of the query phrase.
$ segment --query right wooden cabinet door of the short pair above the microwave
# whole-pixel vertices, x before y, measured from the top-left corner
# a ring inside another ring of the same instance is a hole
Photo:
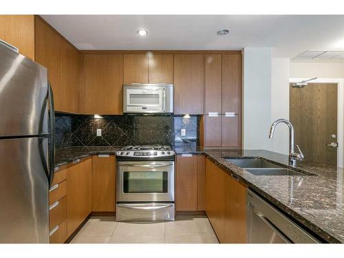
[[[173,54],[149,54],[149,83],[173,84]]]

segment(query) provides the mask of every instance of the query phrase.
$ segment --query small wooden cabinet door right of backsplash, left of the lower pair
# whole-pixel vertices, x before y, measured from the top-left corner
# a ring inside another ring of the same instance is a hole
[[[204,146],[221,147],[222,116],[204,115]]]

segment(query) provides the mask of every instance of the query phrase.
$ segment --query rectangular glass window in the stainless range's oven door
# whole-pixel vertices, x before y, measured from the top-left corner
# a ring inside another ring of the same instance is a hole
[[[123,172],[123,193],[167,193],[166,171]]]

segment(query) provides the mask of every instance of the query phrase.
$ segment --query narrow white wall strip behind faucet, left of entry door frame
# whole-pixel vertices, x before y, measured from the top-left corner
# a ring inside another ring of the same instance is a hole
[[[289,120],[290,59],[272,58],[271,123],[279,118]],[[289,153],[289,130],[278,125],[274,138],[270,140],[270,151]]]

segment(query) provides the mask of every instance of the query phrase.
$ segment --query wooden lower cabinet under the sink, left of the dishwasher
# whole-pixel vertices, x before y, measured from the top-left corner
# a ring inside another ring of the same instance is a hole
[[[208,159],[206,215],[220,243],[246,242],[246,185]]]

